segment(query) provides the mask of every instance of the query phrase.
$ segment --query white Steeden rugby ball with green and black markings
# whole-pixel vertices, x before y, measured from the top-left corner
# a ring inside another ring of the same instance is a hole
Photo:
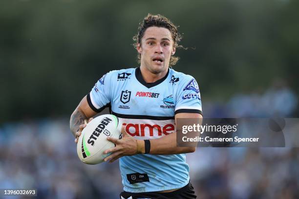
[[[86,164],[98,164],[111,153],[103,154],[114,143],[107,137],[122,139],[122,122],[114,115],[101,115],[92,119],[83,129],[77,143],[77,153],[81,161]]]

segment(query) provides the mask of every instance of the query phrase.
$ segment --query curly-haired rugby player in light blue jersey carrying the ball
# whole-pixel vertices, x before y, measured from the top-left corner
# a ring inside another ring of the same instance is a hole
[[[121,199],[193,199],[186,153],[177,147],[175,119],[202,118],[196,80],[170,66],[181,36],[169,19],[149,14],[133,37],[140,67],[110,71],[81,100],[70,119],[76,137],[104,108],[123,119],[123,139],[105,161],[119,159],[124,191]]]

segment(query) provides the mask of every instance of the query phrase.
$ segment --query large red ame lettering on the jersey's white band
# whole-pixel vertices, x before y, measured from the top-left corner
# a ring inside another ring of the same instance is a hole
[[[123,123],[126,132],[131,136],[162,136],[169,135],[174,132],[173,124],[166,124],[165,126],[160,126],[158,124],[132,124]]]

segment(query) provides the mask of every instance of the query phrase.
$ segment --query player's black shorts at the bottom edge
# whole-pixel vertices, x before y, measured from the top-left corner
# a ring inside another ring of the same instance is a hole
[[[194,188],[190,182],[186,186],[184,186],[178,190],[175,190],[173,192],[168,192],[168,193],[157,193],[157,192],[130,193],[130,192],[124,191],[119,195],[119,197],[121,199],[196,199]]]

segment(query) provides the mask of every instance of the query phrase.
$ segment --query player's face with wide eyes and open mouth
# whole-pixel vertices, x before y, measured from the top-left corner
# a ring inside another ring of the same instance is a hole
[[[137,46],[141,65],[149,72],[158,74],[168,69],[171,55],[175,53],[171,32],[167,28],[149,27]]]

